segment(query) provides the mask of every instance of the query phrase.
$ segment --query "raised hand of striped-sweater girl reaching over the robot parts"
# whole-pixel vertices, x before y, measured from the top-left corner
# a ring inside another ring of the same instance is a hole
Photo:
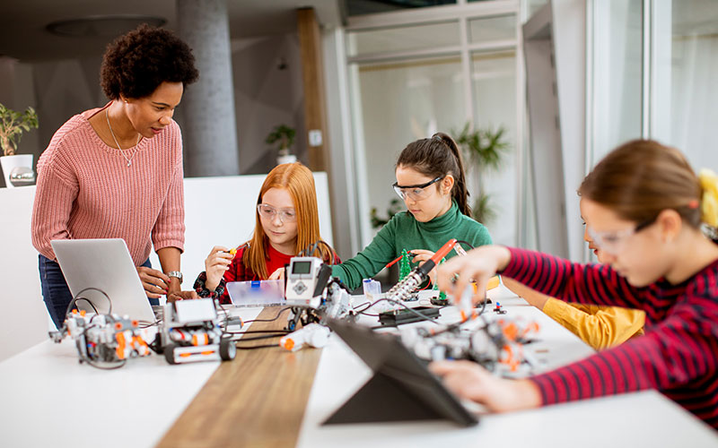
[[[437,268],[439,289],[461,297],[461,293],[471,281],[476,281],[477,289],[472,297],[476,304],[484,300],[488,280],[511,260],[511,252],[504,246],[481,246],[468,251],[464,256],[455,256]]]

